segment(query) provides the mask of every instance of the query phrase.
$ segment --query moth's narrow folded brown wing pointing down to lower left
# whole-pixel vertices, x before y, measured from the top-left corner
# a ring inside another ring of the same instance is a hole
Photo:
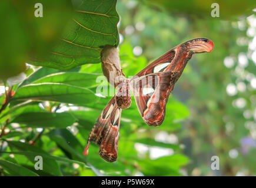
[[[119,125],[122,109],[118,108],[113,97],[102,111],[97,122],[92,128],[84,155],[88,155],[90,142],[99,146],[99,155],[107,162],[114,162],[118,155]]]

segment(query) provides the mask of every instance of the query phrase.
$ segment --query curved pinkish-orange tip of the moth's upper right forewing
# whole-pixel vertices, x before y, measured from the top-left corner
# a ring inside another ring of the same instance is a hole
[[[211,52],[214,48],[214,43],[207,38],[197,38],[182,43],[181,46],[191,53],[204,53]]]

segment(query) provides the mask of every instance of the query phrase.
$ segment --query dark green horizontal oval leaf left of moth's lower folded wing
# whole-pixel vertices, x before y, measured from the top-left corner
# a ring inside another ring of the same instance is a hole
[[[58,127],[65,128],[75,123],[76,119],[68,112],[30,112],[15,117],[11,123],[21,123],[29,127]]]

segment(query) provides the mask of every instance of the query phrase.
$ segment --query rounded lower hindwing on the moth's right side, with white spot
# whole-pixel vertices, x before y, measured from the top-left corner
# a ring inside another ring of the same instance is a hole
[[[134,80],[132,92],[147,125],[159,126],[164,121],[165,106],[178,75],[179,71],[158,72]]]

